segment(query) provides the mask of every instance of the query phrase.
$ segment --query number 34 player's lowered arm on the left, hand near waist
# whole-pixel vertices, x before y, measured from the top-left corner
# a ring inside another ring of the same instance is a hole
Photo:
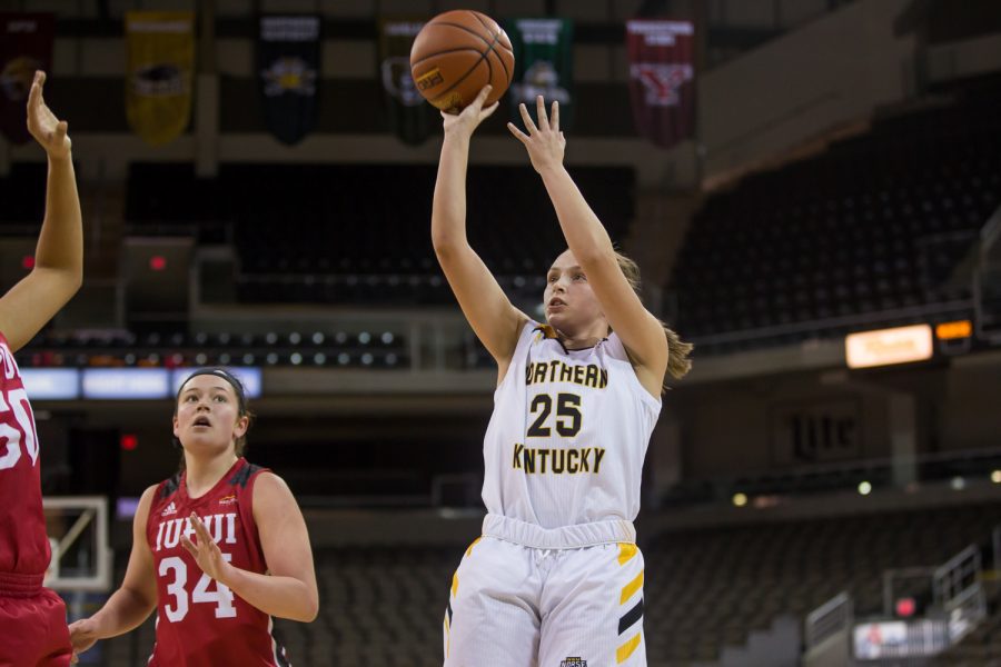
[[[156,486],[146,489],[132,520],[132,552],[121,587],[90,618],[70,624],[73,654],[81,654],[98,640],[117,637],[138,627],[157,608],[157,575],[152,552],[146,541],[146,521]],[[76,660],[75,660],[76,661]]]

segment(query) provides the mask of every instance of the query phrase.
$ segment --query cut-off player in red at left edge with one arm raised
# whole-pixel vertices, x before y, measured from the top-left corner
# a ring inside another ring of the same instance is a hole
[[[0,298],[0,665],[69,665],[66,605],[42,588],[51,550],[42,514],[34,417],[12,352],[44,326],[83,279],[80,198],[67,123],[42,98],[44,72],[28,93],[28,129],[46,149],[46,219],[34,267]]]

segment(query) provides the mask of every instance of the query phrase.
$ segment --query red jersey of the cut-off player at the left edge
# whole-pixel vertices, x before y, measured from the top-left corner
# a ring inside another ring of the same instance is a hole
[[[21,374],[0,334],[0,574],[30,575],[41,586],[51,550],[41,506],[34,415]]]

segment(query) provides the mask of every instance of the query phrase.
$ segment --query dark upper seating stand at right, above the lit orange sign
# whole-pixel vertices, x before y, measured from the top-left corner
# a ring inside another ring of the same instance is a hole
[[[703,354],[729,351],[746,344],[711,337],[751,339],[770,328],[763,342],[839,336],[851,329],[839,318],[894,319],[909,307],[969,298],[948,278],[1001,205],[998,90],[876,120],[816,158],[714,195],[671,280],[678,330],[696,344],[708,337]],[[888,323],[912,321],[898,319]]]

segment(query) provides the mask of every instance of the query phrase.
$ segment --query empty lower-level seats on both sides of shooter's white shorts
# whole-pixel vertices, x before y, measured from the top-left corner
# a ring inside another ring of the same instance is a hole
[[[943,563],[989,539],[999,521],[1001,505],[993,504],[651,536],[642,544],[648,664],[712,664],[776,616],[802,618],[841,590],[852,594],[856,616],[878,613],[885,569]],[[317,550],[319,618],[276,621],[293,664],[440,665],[445,601],[460,557],[455,547]],[[992,623],[971,641],[997,641]],[[109,644],[121,655],[146,655],[151,623]]]

